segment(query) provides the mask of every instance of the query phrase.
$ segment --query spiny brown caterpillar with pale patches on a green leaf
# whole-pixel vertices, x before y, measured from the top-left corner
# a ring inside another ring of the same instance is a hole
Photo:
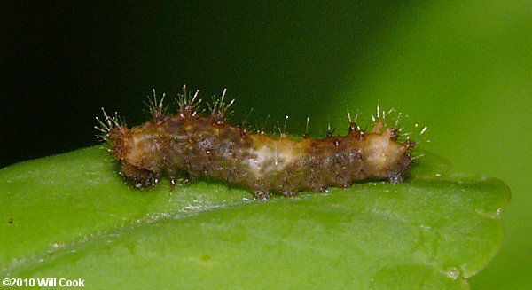
[[[176,114],[157,99],[148,106],[152,120],[128,128],[115,113],[98,121],[98,138],[111,145],[110,151],[120,166],[120,174],[134,188],[156,186],[167,175],[172,187],[178,176],[184,182],[198,177],[222,180],[243,186],[257,199],[270,192],[292,197],[303,190],[325,192],[328,186],[350,187],[354,181],[388,180],[403,182],[412,159],[415,142],[398,142],[400,130],[373,118],[373,128],[364,131],[349,117],[348,134],[313,139],[270,137],[263,130],[231,126],[234,99],[221,98],[209,104],[210,114],[200,111],[199,90],[194,94],[183,87],[178,95]],[[308,121],[308,119],[307,119]],[[308,126],[308,125],[307,125]]]

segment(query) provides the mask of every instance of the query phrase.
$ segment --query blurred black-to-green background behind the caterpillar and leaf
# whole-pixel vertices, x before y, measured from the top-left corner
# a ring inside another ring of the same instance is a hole
[[[2,4],[5,6],[6,4]],[[340,128],[379,102],[428,126],[455,171],[512,188],[507,240],[473,289],[532,283],[532,2],[119,2],[1,7],[0,166],[96,143],[99,107],[143,121],[152,88],[228,88],[235,120]],[[270,125],[270,128],[272,125]]]

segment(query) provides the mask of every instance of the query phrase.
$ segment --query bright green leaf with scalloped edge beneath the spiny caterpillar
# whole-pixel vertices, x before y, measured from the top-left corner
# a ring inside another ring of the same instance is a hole
[[[131,190],[90,147],[0,170],[3,277],[87,288],[468,289],[503,239],[494,178],[426,154],[403,184],[253,200],[216,182]]]

